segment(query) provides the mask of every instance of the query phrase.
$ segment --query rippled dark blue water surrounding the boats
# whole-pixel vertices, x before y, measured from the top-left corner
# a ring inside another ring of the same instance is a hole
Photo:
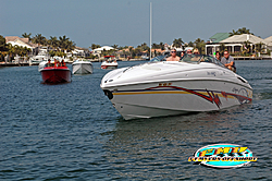
[[[41,84],[37,67],[1,68],[0,180],[272,180],[272,61],[236,64],[251,104],[133,121],[100,89],[109,71],[98,62],[94,74],[59,85]],[[215,143],[247,146],[258,161],[235,169],[187,161]]]

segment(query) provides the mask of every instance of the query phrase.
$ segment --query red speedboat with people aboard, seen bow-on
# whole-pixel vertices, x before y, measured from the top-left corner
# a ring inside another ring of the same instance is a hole
[[[44,83],[65,83],[71,82],[71,71],[62,63],[50,64],[48,62],[45,68],[40,70]]]

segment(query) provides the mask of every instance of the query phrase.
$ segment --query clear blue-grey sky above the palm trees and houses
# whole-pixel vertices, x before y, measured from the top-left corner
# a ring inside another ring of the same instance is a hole
[[[209,40],[246,27],[272,36],[272,0],[0,0],[0,35],[66,36],[76,46]]]

